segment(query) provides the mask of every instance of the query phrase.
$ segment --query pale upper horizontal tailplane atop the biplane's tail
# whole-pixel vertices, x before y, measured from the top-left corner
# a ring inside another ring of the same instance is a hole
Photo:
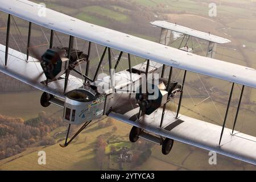
[[[218,44],[225,44],[225,43],[231,42],[230,40],[225,39],[225,38],[221,38],[220,36],[207,34],[205,32],[201,32],[201,31],[198,31],[198,30],[193,30],[192,28],[183,27],[183,26],[180,26],[180,25],[177,25],[177,24],[174,24],[174,23],[169,23],[169,22],[158,20],[158,21],[155,21],[155,22],[151,22],[151,24],[154,25],[154,26],[157,26],[157,27],[166,28],[168,30],[179,32],[181,34],[191,35],[195,38],[207,40],[209,42],[214,42],[214,43],[218,43]]]

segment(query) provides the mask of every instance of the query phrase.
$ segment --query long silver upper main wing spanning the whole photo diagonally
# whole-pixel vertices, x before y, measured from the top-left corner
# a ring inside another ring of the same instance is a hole
[[[40,16],[40,9],[42,9],[42,6],[26,0],[0,0],[1,11],[40,26],[175,68],[256,88],[256,70],[253,68],[180,51],[159,43],[86,23],[50,9],[46,9],[46,16]]]

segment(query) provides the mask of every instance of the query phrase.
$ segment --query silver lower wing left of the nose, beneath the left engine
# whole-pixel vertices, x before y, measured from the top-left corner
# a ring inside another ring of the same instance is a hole
[[[46,76],[43,74],[43,69],[40,62],[33,57],[29,57],[26,62],[26,55],[9,48],[9,60],[7,67],[5,67],[5,46],[0,44],[0,72],[5,73],[11,77],[14,77],[28,85],[44,92],[50,93],[53,96],[57,96],[65,99],[64,96],[64,78],[49,82],[46,86],[43,81],[46,80]],[[67,92],[77,89],[82,86],[82,80],[70,75],[67,87]]]

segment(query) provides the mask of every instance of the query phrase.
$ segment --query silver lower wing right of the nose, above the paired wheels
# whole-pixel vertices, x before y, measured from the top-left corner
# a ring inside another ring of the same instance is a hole
[[[138,122],[136,119],[135,114],[138,112],[139,107],[125,114],[112,111],[109,113],[109,117],[137,126],[156,135],[191,144],[205,150],[215,151],[247,163],[256,164],[256,137],[251,137],[238,131],[234,131],[234,135],[232,135],[232,130],[225,128],[222,142],[219,146],[221,126],[186,117],[185,115],[180,115],[176,119],[175,113],[166,111],[163,127],[159,128],[162,108],[159,108],[151,115],[145,115],[143,123]]]

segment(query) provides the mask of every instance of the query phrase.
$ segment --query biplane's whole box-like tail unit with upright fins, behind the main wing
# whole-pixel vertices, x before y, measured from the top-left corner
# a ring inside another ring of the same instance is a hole
[[[180,43],[179,49],[187,52],[193,52],[193,48],[186,48],[186,47],[181,47],[181,44],[184,42],[185,44],[188,43],[189,39],[191,39],[191,42],[193,44],[193,38],[198,38],[202,40],[206,40],[209,42],[208,48],[207,48],[207,57],[214,57],[217,44],[225,44],[231,42],[228,39],[221,38],[220,36],[212,35],[206,32],[201,32],[198,30],[193,30],[192,28],[180,26],[177,23],[170,23],[170,22],[165,22],[162,20],[157,20],[155,22],[151,22],[153,26],[160,27],[161,28],[161,35],[160,35],[160,43],[167,45],[170,43],[171,40],[171,31],[183,34],[183,40]]]

